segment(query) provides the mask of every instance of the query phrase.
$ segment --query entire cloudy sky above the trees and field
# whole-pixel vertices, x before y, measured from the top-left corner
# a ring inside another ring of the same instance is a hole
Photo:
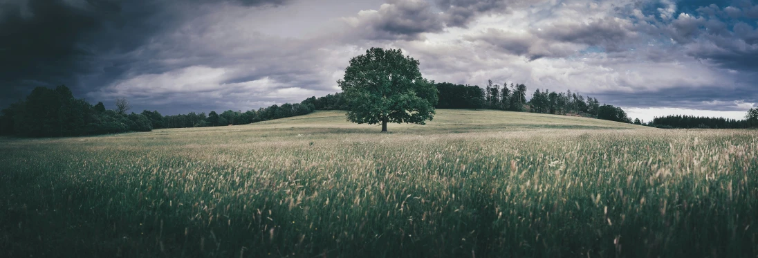
[[[0,106],[65,84],[135,112],[245,111],[335,93],[377,46],[438,82],[740,118],[758,103],[756,27],[748,0],[0,0]]]

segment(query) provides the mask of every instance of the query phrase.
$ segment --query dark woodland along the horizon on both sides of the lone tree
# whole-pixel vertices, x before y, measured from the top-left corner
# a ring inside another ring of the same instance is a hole
[[[484,88],[476,85],[436,83],[437,109],[498,109],[514,112],[537,112],[556,115],[580,115],[611,121],[632,123],[626,112],[613,105],[600,105],[591,97],[570,90],[565,93],[534,90],[526,100],[524,84],[493,84]],[[116,109],[107,110],[102,102],[91,105],[76,99],[65,86],[49,89],[36,87],[27,99],[12,104],[0,112],[0,135],[21,137],[70,137],[96,134],[116,134],[128,131],[152,131],[161,128],[212,127],[230,124],[250,124],[277,118],[306,115],[315,110],[346,110],[343,93],[312,96],[300,103],[271,105],[246,112],[227,110],[221,114],[211,111],[189,112],[186,115],[161,115],[158,111],[144,110],[128,113],[126,99],[117,99]],[[750,114],[753,114],[751,117]],[[750,109],[748,119],[704,118],[694,116],[667,116],[655,118],[647,124],[662,128],[747,128],[758,126],[758,109]]]

